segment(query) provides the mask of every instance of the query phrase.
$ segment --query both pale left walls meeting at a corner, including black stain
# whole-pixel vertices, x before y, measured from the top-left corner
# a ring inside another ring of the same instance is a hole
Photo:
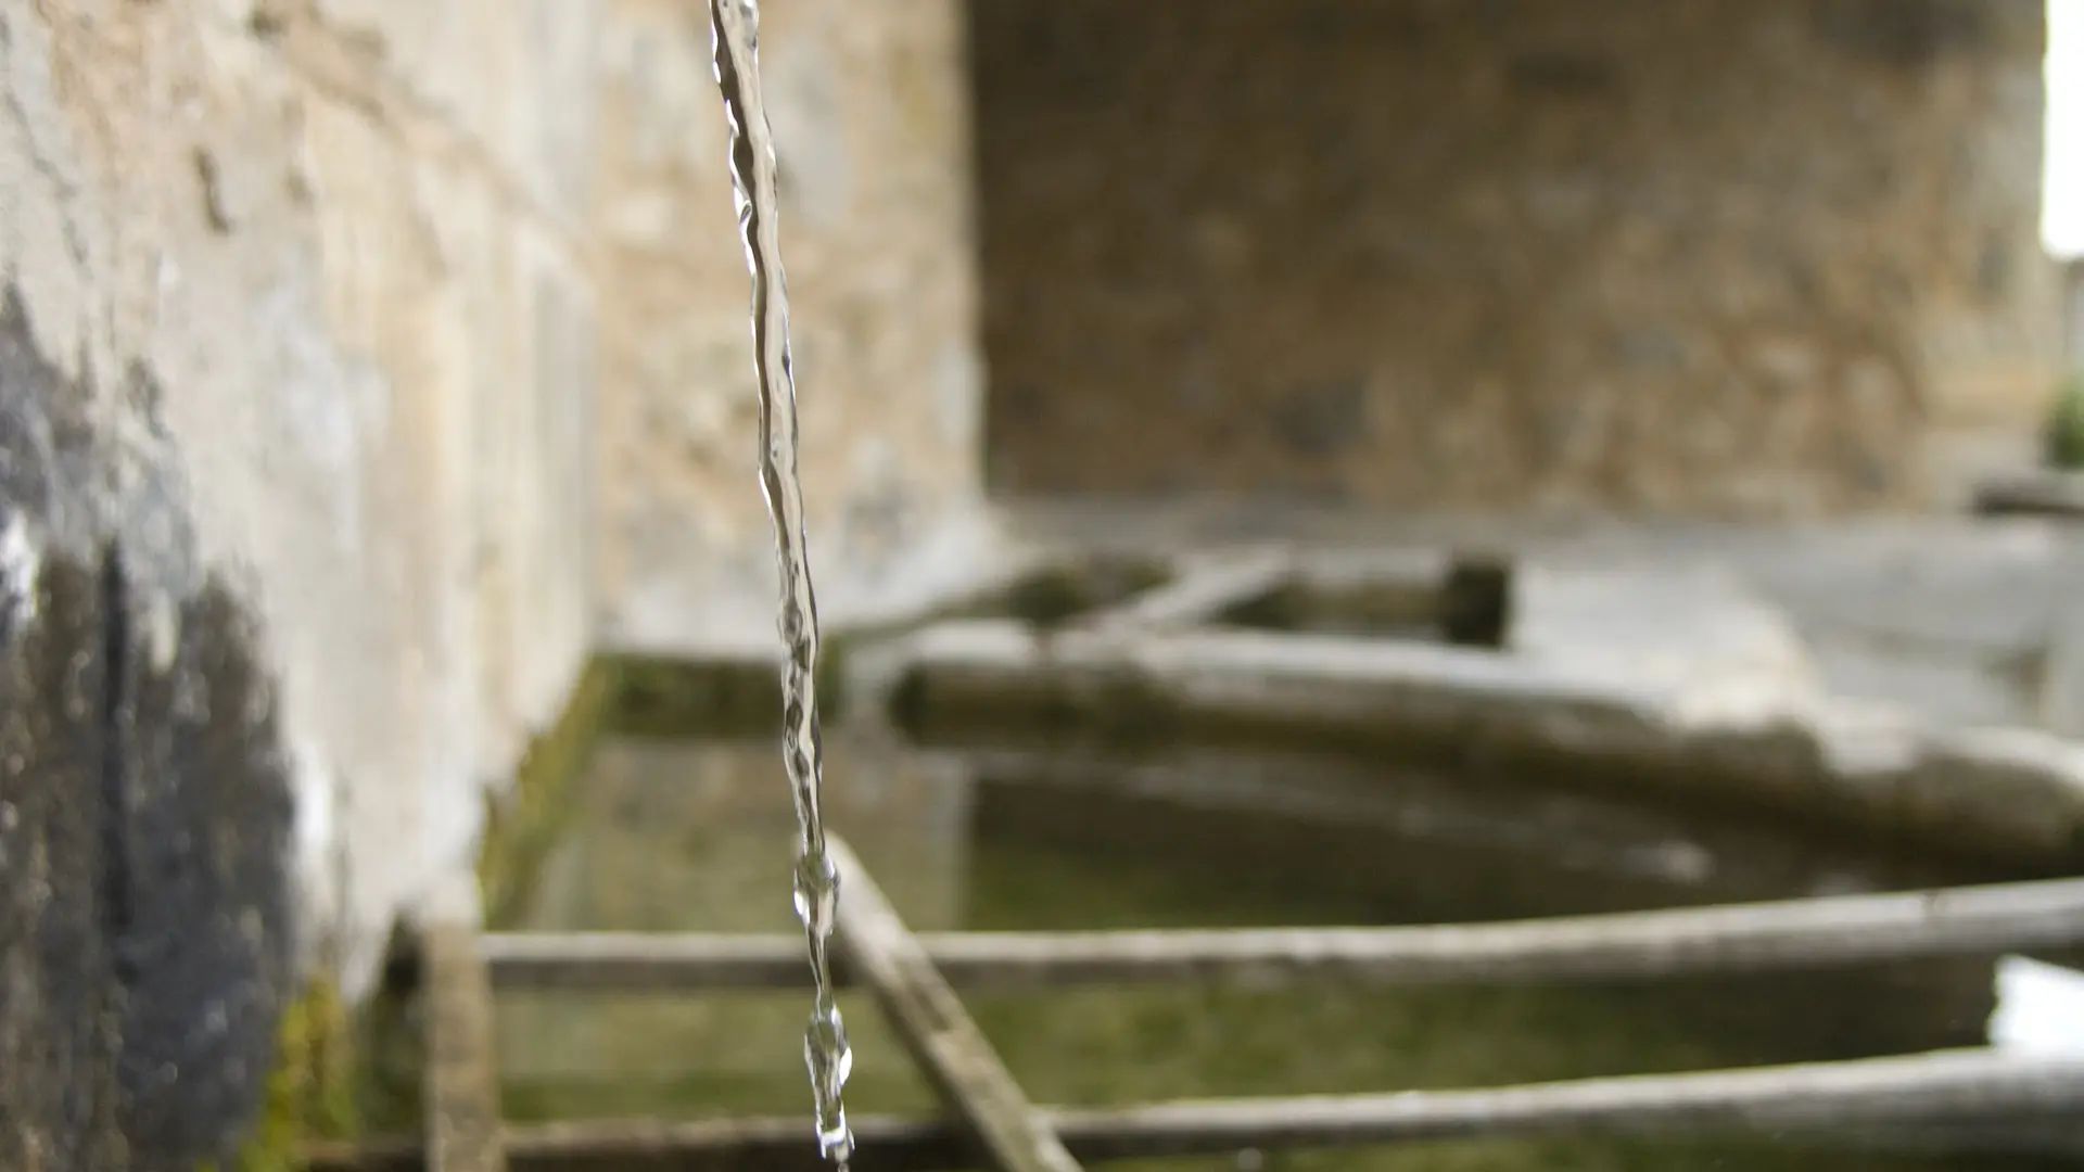
[[[961,8],[767,8],[844,621],[990,544]],[[773,638],[706,6],[0,0],[0,1166],[185,1170],[600,624]]]

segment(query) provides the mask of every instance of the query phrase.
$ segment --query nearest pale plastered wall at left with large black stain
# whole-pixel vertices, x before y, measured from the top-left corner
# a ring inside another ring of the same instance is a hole
[[[0,0],[0,1166],[223,1157],[563,703],[596,15]]]

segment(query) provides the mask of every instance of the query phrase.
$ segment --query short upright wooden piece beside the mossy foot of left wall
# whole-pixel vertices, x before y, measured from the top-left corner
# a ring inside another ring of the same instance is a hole
[[[475,882],[458,878],[421,928],[427,1068],[421,1095],[429,1172],[506,1172],[500,1147],[492,986],[477,955]]]

